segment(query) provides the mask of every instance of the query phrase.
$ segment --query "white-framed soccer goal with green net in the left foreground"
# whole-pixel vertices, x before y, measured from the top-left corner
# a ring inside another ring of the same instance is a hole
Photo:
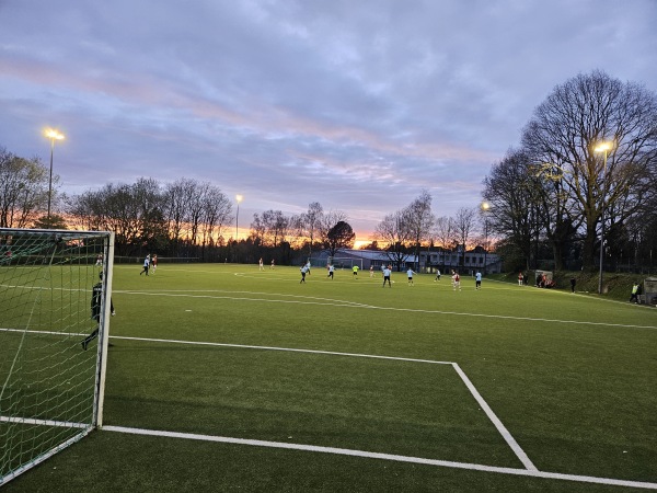
[[[113,257],[111,232],[0,228],[0,486],[102,425]]]

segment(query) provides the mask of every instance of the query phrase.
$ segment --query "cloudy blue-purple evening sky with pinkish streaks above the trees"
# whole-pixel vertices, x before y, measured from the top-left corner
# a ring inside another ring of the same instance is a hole
[[[557,84],[657,90],[656,0],[0,0],[0,147],[70,195],[210,182],[253,214],[477,207]]]

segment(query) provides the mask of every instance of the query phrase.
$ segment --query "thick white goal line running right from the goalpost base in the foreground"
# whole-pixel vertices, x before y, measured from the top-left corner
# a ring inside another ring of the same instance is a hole
[[[410,462],[423,466],[438,466],[443,468],[466,469],[472,471],[495,472],[502,474],[525,475],[531,478],[542,478],[563,481],[575,481],[593,484],[606,484],[613,486],[642,488],[647,490],[657,490],[657,483],[642,481],[626,481],[610,478],[596,478],[591,475],[563,474],[558,472],[543,472],[532,469],[503,468],[496,466],[483,466],[479,463],[452,462],[449,460],[424,459],[420,457],[397,456],[393,454],[380,454],[365,450],[353,450],[348,448],[320,447],[316,445],[287,444],[285,442],[265,442],[245,438],[230,438],[222,436],[198,435],[193,433],[160,432],[154,429],[128,428],[124,426],[103,426],[103,432],[128,433],[132,435],[160,436],[168,438],[192,439],[215,442],[222,444],[250,445],[255,447],[281,448],[288,450],[302,450],[320,454],[336,454],[341,456],[361,457],[367,459],[393,460],[396,462]]]

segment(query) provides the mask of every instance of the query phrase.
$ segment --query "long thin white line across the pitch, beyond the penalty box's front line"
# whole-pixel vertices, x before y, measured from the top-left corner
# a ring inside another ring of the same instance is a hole
[[[131,290],[120,290],[114,293],[122,293],[127,295],[141,295],[141,296],[170,296],[170,297],[188,297],[188,298],[208,298],[208,299],[230,299],[234,301],[258,301],[266,303],[296,303],[296,305],[319,305],[319,306],[327,306],[327,307],[342,307],[342,308],[365,308],[370,310],[388,310],[388,311],[405,311],[411,313],[436,313],[436,314],[447,314],[447,316],[456,316],[456,317],[474,317],[474,318],[484,318],[484,319],[499,319],[499,320],[519,320],[519,321],[528,321],[528,322],[549,322],[549,323],[567,323],[575,325],[592,325],[592,326],[613,326],[613,328],[623,328],[623,329],[650,329],[656,330],[657,326],[654,325],[633,325],[626,323],[610,323],[610,322],[590,322],[587,320],[560,320],[560,319],[543,319],[543,318],[534,318],[534,317],[512,317],[512,316],[500,316],[500,314],[488,314],[488,313],[465,313],[459,311],[447,311],[447,310],[425,310],[419,308],[395,308],[395,307],[377,307],[374,305],[361,305],[343,300],[330,300],[326,299],[324,301],[323,298],[319,298],[318,301],[304,301],[297,299],[268,299],[268,298],[250,298],[243,296],[217,296],[217,295],[189,295],[188,293],[171,293],[171,291],[131,291]],[[242,293],[242,291],[241,291]],[[284,295],[273,295],[269,296],[284,296]],[[318,299],[318,298],[310,298]]]

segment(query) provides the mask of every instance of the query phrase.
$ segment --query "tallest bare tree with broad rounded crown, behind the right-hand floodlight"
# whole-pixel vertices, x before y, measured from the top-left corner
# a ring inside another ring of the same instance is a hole
[[[563,192],[584,221],[585,268],[593,267],[603,211],[613,210],[623,221],[649,193],[656,125],[655,93],[596,70],[557,85],[523,129],[522,146],[532,161],[564,170]],[[607,160],[595,151],[602,141],[612,142]]]

